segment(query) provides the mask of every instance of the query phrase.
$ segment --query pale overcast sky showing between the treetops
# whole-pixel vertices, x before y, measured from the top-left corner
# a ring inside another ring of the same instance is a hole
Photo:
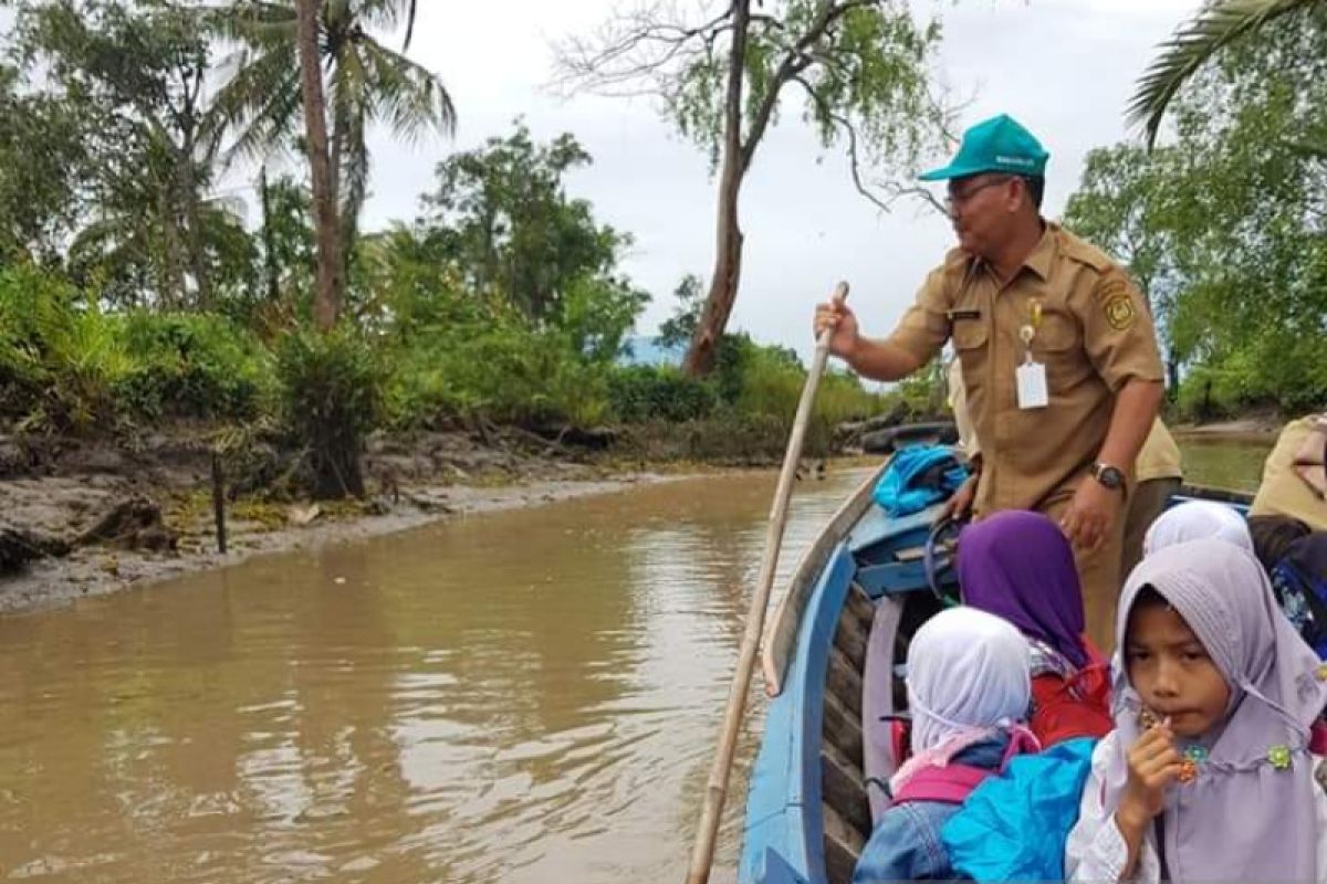
[[[940,9],[945,37],[938,70],[973,101],[962,126],[1009,113],[1051,152],[1047,213],[1058,216],[1092,147],[1129,135],[1123,109],[1137,76],[1198,0],[918,0]],[[646,99],[548,91],[552,44],[588,34],[613,0],[507,0],[419,4],[411,56],[438,72],[455,101],[454,142],[417,147],[373,139],[373,195],[366,228],[410,219],[438,159],[492,135],[523,115],[533,135],[571,131],[594,164],[569,182],[597,217],[636,237],[632,278],[654,294],[640,329],[652,333],[673,309],[685,273],[707,278],[714,254],[715,182],[705,154],[674,134]],[[792,93],[790,93],[790,97]],[[823,154],[800,113],[760,144],[742,195],[747,235],[742,292],[733,326],[762,342],[811,346],[812,305],[836,280],[871,333],[888,331],[926,270],[951,245],[947,224],[902,204],[882,215],[853,190],[843,159]],[[821,162],[823,156],[823,162]],[[943,158],[937,158],[937,160]]]

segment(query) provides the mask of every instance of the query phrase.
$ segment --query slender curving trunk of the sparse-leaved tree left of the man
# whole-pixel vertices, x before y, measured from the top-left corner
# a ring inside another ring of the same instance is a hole
[[[742,150],[742,83],[746,77],[747,27],[751,21],[751,0],[734,0],[733,50],[729,57],[729,89],[723,106],[723,168],[719,174],[719,211],[715,237],[714,273],[705,309],[695,323],[691,346],[686,351],[683,368],[699,376],[714,368],[723,330],[738,297],[742,276],[742,229],[738,227],[738,197],[747,158]]]

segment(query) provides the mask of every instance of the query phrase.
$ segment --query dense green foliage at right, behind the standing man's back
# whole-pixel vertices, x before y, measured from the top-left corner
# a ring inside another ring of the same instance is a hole
[[[1066,223],[1129,262],[1188,416],[1327,402],[1327,7],[1218,52],[1148,152],[1088,156]]]

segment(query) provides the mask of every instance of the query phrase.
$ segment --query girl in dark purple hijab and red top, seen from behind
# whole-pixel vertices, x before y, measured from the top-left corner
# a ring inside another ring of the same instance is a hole
[[[1028,641],[1032,710],[1043,746],[1111,730],[1111,681],[1083,635],[1083,591],[1074,551],[1040,513],[1006,510],[958,538],[963,602],[1013,623]]]

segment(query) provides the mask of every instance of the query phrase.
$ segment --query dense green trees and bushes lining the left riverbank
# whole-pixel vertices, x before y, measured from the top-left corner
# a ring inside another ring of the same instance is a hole
[[[567,192],[567,176],[592,163],[576,138],[540,143],[519,121],[439,162],[410,223],[362,233],[362,193],[346,193],[340,323],[314,331],[307,178],[259,167],[253,187],[216,193],[227,160],[299,133],[289,77],[268,93],[256,86],[273,60],[293,57],[289,4],[263,9],[19,4],[0,68],[0,417],[12,428],[277,427],[307,448],[316,490],[337,494],[362,488],[352,461],[376,428],[771,415],[780,427],[791,416],[803,368],[742,335],[706,382],[626,364],[649,301],[621,272],[630,236]],[[260,15],[276,24],[259,28]],[[386,49],[361,40],[354,52]],[[341,61],[356,69],[352,54]],[[410,83],[370,78],[365,89],[417,89],[433,121],[449,122],[438,83],[409,70]],[[202,78],[227,74],[208,103]],[[344,134],[358,156],[362,131]],[[348,159],[348,174],[366,175],[366,163]],[[682,313],[694,306],[694,296],[679,300]],[[853,379],[828,387],[825,427],[876,406]]]

